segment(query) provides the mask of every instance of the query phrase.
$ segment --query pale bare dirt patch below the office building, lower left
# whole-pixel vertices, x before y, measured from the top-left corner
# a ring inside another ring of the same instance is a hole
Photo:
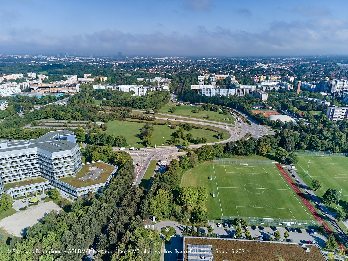
[[[59,211],[60,208],[52,201],[40,201],[36,206],[27,207],[11,216],[5,217],[0,221],[0,227],[7,231],[8,234],[22,237],[26,234],[26,228],[36,224],[41,217],[51,212]]]

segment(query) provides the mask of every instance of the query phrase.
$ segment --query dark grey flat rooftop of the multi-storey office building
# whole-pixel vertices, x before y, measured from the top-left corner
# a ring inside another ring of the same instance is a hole
[[[73,149],[77,143],[62,140],[60,136],[74,135],[70,130],[54,130],[48,132],[37,139],[25,140],[25,141],[2,141],[1,152],[8,152],[22,149],[39,148],[48,152],[59,152]],[[61,137],[62,138],[62,137]],[[6,147],[7,143],[7,147]]]

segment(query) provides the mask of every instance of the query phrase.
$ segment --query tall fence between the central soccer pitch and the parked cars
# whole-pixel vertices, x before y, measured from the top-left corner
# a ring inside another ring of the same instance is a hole
[[[293,220],[293,219],[277,219],[268,217],[245,217],[245,216],[221,216],[221,221],[228,223],[233,222],[234,219],[245,219],[248,225],[266,226],[266,227],[293,227],[293,228],[318,228],[323,221],[311,220]]]

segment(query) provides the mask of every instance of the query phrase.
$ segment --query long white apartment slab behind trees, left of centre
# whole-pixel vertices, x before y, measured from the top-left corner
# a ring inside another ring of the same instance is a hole
[[[134,92],[135,96],[144,96],[147,91],[159,92],[161,90],[169,90],[169,84],[163,84],[161,86],[142,86],[142,85],[93,85],[94,89],[112,89],[122,92]]]

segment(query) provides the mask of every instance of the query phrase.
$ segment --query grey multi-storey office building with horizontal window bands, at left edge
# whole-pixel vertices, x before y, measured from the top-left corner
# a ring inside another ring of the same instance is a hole
[[[32,140],[2,141],[0,143],[0,191],[3,191],[4,185],[8,183],[40,176],[66,191],[57,184],[56,180],[76,175],[81,166],[80,147],[76,143],[74,133],[70,130],[55,130]],[[43,182],[45,183],[45,180]],[[38,190],[38,187],[34,186],[32,189]],[[20,193],[16,195],[22,196]]]

